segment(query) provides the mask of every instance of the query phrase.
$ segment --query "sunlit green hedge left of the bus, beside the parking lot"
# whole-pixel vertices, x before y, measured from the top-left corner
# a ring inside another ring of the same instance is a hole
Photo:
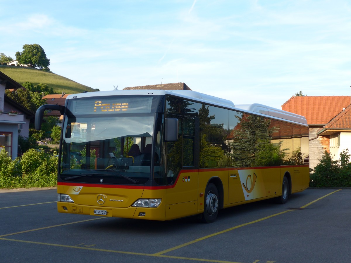
[[[29,149],[11,160],[6,150],[0,152],[0,188],[53,187],[57,182],[57,153]]]

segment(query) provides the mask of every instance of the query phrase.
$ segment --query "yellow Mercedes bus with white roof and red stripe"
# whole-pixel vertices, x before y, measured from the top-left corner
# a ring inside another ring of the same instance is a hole
[[[191,90],[69,95],[59,150],[60,213],[173,220],[309,187],[303,116]]]

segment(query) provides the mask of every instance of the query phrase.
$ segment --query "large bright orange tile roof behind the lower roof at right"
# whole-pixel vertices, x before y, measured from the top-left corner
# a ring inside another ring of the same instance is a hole
[[[351,96],[292,96],[282,105],[282,110],[305,116],[307,124],[324,125],[350,102]]]

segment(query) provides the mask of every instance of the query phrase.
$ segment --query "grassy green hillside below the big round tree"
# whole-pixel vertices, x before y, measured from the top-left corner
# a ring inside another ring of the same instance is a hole
[[[0,71],[20,84],[26,81],[32,82],[33,85],[46,84],[53,88],[54,93],[57,94],[62,93],[62,91],[66,94],[82,93],[85,90],[87,92],[96,91],[66,77],[35,68],[0,66]]]

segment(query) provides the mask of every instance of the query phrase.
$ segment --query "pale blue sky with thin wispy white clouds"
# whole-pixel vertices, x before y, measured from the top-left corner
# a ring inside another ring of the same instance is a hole
[[[351,95],[350,0],[0,0],[0,52],[39,44],[53,73],[102,90],[184,82],[281,108]]]

